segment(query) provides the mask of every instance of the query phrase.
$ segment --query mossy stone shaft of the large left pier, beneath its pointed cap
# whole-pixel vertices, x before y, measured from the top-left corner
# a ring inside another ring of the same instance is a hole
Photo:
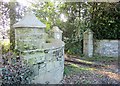
[[[19,50],[41,49],[45,42],[44,29],[38,28],[17,28],[16,48]]]

